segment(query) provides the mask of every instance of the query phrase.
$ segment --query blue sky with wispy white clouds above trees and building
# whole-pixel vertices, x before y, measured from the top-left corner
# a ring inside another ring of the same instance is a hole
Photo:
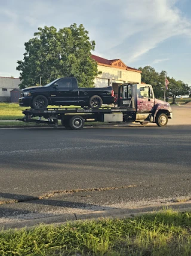
[[[39,27],[73,23],[96,41],[94,55],[191,86],[190,0],[0,0],[0,76],[19,77],[24,43]]]

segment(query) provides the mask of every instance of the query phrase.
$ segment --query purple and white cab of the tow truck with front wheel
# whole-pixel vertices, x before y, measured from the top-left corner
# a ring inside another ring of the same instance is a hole
[[[172,118],[170,104],[155,98],[152,85],[125,83],[119,86],[118,107],[132,107],[135,115],[132,121],[164,126]]]

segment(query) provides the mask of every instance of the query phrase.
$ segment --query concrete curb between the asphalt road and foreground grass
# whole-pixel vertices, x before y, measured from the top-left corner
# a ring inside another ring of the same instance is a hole
[[[45,225],[63,225],[66,222],[79,222],[79,221],[93,221],[103,218],[111,219],[123,219],[123,218],[134,218],[141,215],[156,214],[159,211],[166,209],[172,209],[177,212],[190,212],[191,202],[183,203],[170,203],[170,204],[160,204],[159,206],[150,205],[147,207],[139,208],[122,208],[122,209],[112,209],[112,210],[99,210],[94,212],[84,212],[84,213],[71,213],[63,214],[58,216],[50,216],[38,219],[29,219],[24,221],[7,222],[0,224],[1,230],[10,229],[20,229],[20,228],[35,228],[39,224]]]

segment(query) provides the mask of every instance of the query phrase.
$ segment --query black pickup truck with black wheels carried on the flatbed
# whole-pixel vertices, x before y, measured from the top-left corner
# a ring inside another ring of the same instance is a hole
[[[81,106],[98,109],[102,104],[112,104],[112,86],[105,88],[78,88],[75,77],[56,79],[45,86],[28,87],[21,90],[20,106],[44,109],[48,105]]]

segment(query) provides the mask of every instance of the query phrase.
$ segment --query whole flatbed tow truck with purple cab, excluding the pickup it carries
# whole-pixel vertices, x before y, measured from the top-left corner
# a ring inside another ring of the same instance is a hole
[[[154,97],[151,85],[124,83],[119,86],[118,100],[115,106],[100,109],[83,108],[47,108],[26,109],[24,117],[17,119],[23,122],[55,125],[58,120],[67,129],[82,129],[84,122],[94,120],[98,122],[140,122],[146,125],[156,123],[159,127],[167,125],[172,118],[170,104]],[[38,119],[36,119],[36,117]],[[46,120],[42,120],[42,118]]]

